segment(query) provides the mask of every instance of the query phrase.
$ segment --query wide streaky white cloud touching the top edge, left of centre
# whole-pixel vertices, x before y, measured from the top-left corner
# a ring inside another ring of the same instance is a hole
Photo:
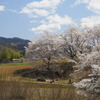
[[[63,0],[41,0],[28,3],[20,13],[28,14],[31,17],[48,16],[55,12],[57,6]]]

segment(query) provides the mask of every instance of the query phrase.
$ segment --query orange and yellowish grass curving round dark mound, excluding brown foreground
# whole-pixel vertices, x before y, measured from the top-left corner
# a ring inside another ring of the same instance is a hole
[[[36,63],[37,64],[37,63]],[[27,68],[32,68],[33,65],[30,65],[29,63],[8,63],[8,64],[1,64],[0,65],[0,79],[1,80],[7,80],[7,81],[23,81],[23,82],[32,82],[34,83],[34,85],[40,85],[39,87],[41,87],[41,84],[43,84],[43,86],[47,87],[47,88],[51,88],[52,87],[57,87],[61,86],[61,87],[66,87],[67,85],[67,80],[60,80],[60,81],[55,81],[53,85],[50,85],[50,79],[47,79],[46,82],[38,82],[37,79],[31,79],[31,78],[23,78],[21,76],[15,76],[13,75],[13,73],[16,70],[20,70],[20,69],[27,69]],[[42,87],[43,87],[42,86]],[[36,86],[37,87],[37,86]],[[69,88],[71,88],[70,85],[68,85]]]

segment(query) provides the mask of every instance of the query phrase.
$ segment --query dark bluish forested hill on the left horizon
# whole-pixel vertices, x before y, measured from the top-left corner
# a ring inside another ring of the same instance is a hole
[[[24,47],[28,45],[29,40],[21,39],[21,38],[5,38],[0,37],[0,48],[1,50],[5,47],[14,49],[16,51],[19,51],[23,55],[25,54]]]

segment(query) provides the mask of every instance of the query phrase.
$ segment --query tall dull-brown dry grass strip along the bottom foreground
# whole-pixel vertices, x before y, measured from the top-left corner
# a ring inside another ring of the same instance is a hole
[[[32,83],[0,81],[0,100],[82,100],[73,89],[36,88]]]

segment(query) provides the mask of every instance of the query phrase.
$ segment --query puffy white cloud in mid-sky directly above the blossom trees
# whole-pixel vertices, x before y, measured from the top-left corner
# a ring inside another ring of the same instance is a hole
[[[63,25],[73,24],[73,21],[67,15],[64,17],[55,14],[47,17],[48,21],[42,21],[42,24],[36,28],[32,28],[33,32],[60,30]]]

